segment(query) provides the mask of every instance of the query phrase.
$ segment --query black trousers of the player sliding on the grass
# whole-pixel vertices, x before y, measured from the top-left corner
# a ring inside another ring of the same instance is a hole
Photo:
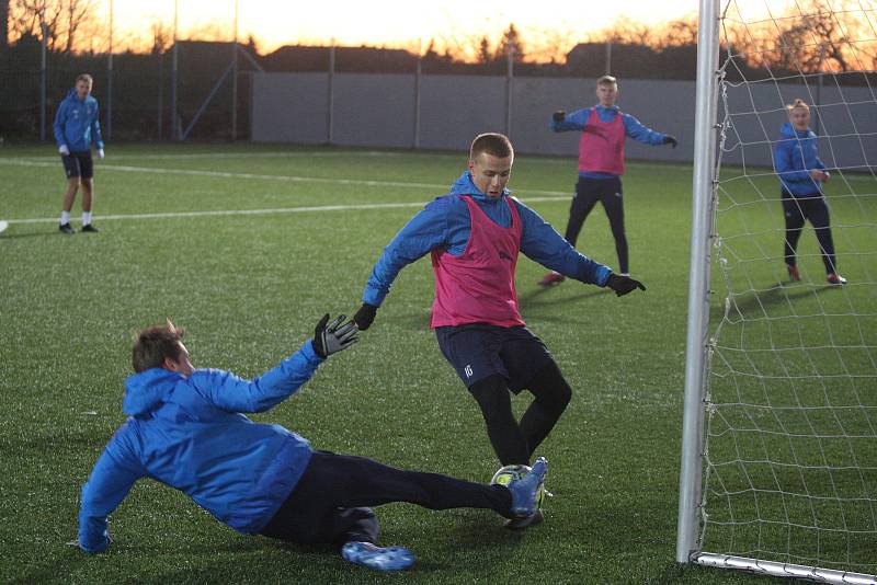
[[[371,506],[390,502],[430,509],[489,508],[512,517],[512,496],[504,486],[405,471],[365,457],[317,451],[262,535],[339,547],[350,540],[376,542],[378,521]]]

